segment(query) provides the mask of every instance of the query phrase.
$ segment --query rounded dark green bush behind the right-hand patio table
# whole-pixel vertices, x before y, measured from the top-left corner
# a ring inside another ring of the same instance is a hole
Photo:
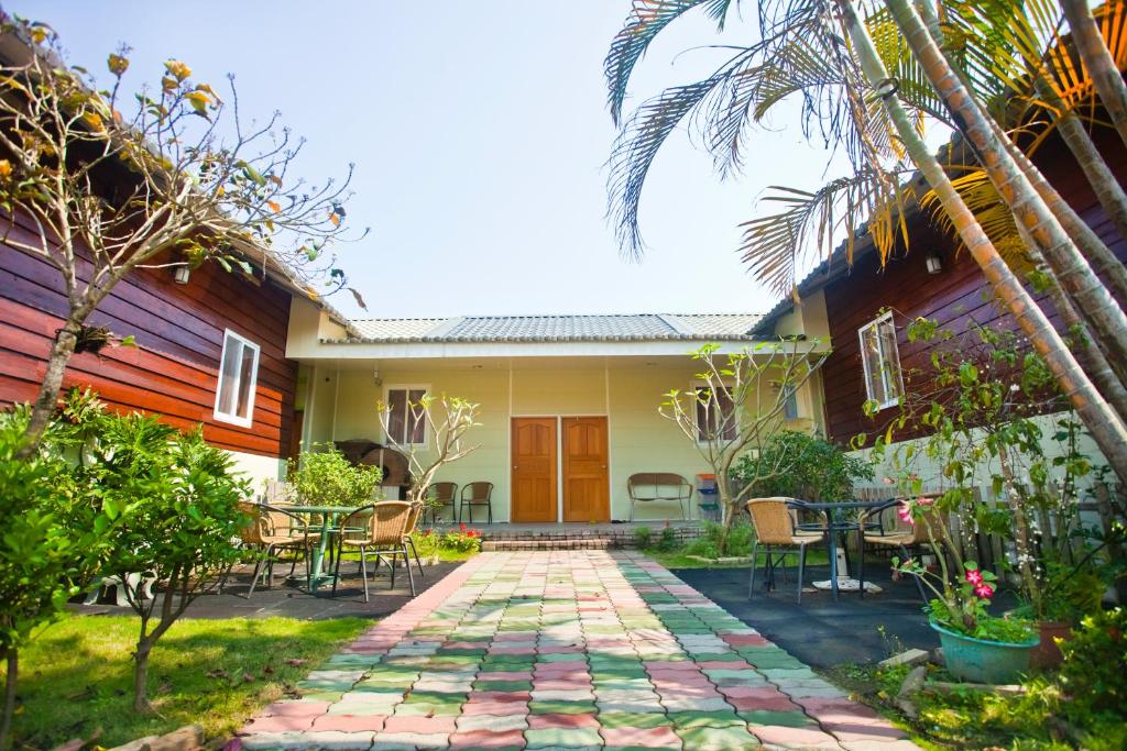
[[[872,480],[873,470],[824,438],[783,430],[772,436],[757,456],[739,457],[733,475],[754,485],[751,498],[845,501],[853,498],[854,481]]]

